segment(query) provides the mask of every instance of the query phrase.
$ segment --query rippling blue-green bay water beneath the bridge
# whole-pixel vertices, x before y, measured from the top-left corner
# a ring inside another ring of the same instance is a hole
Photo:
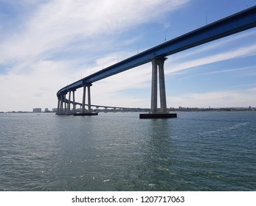
[[[255,191],[256,112],[0,114],[0,191]]]

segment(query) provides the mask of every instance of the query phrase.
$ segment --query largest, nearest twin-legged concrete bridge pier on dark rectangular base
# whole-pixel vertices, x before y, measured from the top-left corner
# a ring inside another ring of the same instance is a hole
[[[173,118],[176,113],[167,112],[166,94],[165,94],[165,72],[164,64],[167,58],[154,57],[152,63],[152,82],[151,82],[151,112],[140,114],[139,118]],[[158,71],[158,72],[157,72]],[[157,108],[157,74],[159,73],[159,92],[160,92],[160,110]]]

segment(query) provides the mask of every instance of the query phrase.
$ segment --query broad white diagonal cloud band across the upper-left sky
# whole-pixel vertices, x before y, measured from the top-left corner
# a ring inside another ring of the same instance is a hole
[[[102,35],[116,35],[139,24],[154,21],[167,10],[175,10],[186,2],[48,1],[28,16],[20,32],[0,43],[0,63],[46,57],[52,52],[66,49],[77,40],[84,40],[84,46],[87,48],[89,44],[89,49],[93,49],[92,40],[94,48],[97,48],[97,38],[102,38]],[[158,7],[163,3],[171,7]]]

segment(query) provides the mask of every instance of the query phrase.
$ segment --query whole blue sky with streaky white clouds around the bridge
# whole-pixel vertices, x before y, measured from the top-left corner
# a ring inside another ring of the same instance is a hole
[[[57,107],[57,91],[255,0],[0,0],[0,111]],[[167,107],[256,107],[256,29],[168,57]],[[76,91],[81,101],[82,89]],[[91,87],[91,103],[150,107],[151,63]]]

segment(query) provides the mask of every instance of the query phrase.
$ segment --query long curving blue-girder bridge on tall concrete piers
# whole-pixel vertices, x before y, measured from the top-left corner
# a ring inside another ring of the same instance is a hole
[[[70,115],[71,95],[73,102],[73,114],[75,115],[75,90],[83,88],[83,102],[82,112],[80,115],[94,115],[91,113],[91,85],[94,82],[118,74],[122,71],[134,68],[145,63],[152,63],[152,82],[151,82],[151,112],[148,114],[141,114],[140,118],[172,118],[176,117],[174,113],[167,113],[166,94],[165,94],[165,74],[164,63],[167,56],[176,54],[180,51],[208,43],[213,40],[224,38],[238,32],[243,32],[246,29],[252,29],[256,26],[256,6],[250,7],[234,15],[222,18],[212,24],[202,26],[187,34],[181,35],[173,40],[168,40],[158,46],[155,46],[146,51],[142,51],[128,59],[122,60],[119,63],[97,71],[77,82],[67,85],[58,90],[58,115]],[[159,77],[158,77],[159,76]],[[157,107],[157,84],[159,78],[159,97],[160,108]],[[87,88],[87,105],[88,112],[86,112],[86,88]],[[66,95],[69,93],[69,99]]]

